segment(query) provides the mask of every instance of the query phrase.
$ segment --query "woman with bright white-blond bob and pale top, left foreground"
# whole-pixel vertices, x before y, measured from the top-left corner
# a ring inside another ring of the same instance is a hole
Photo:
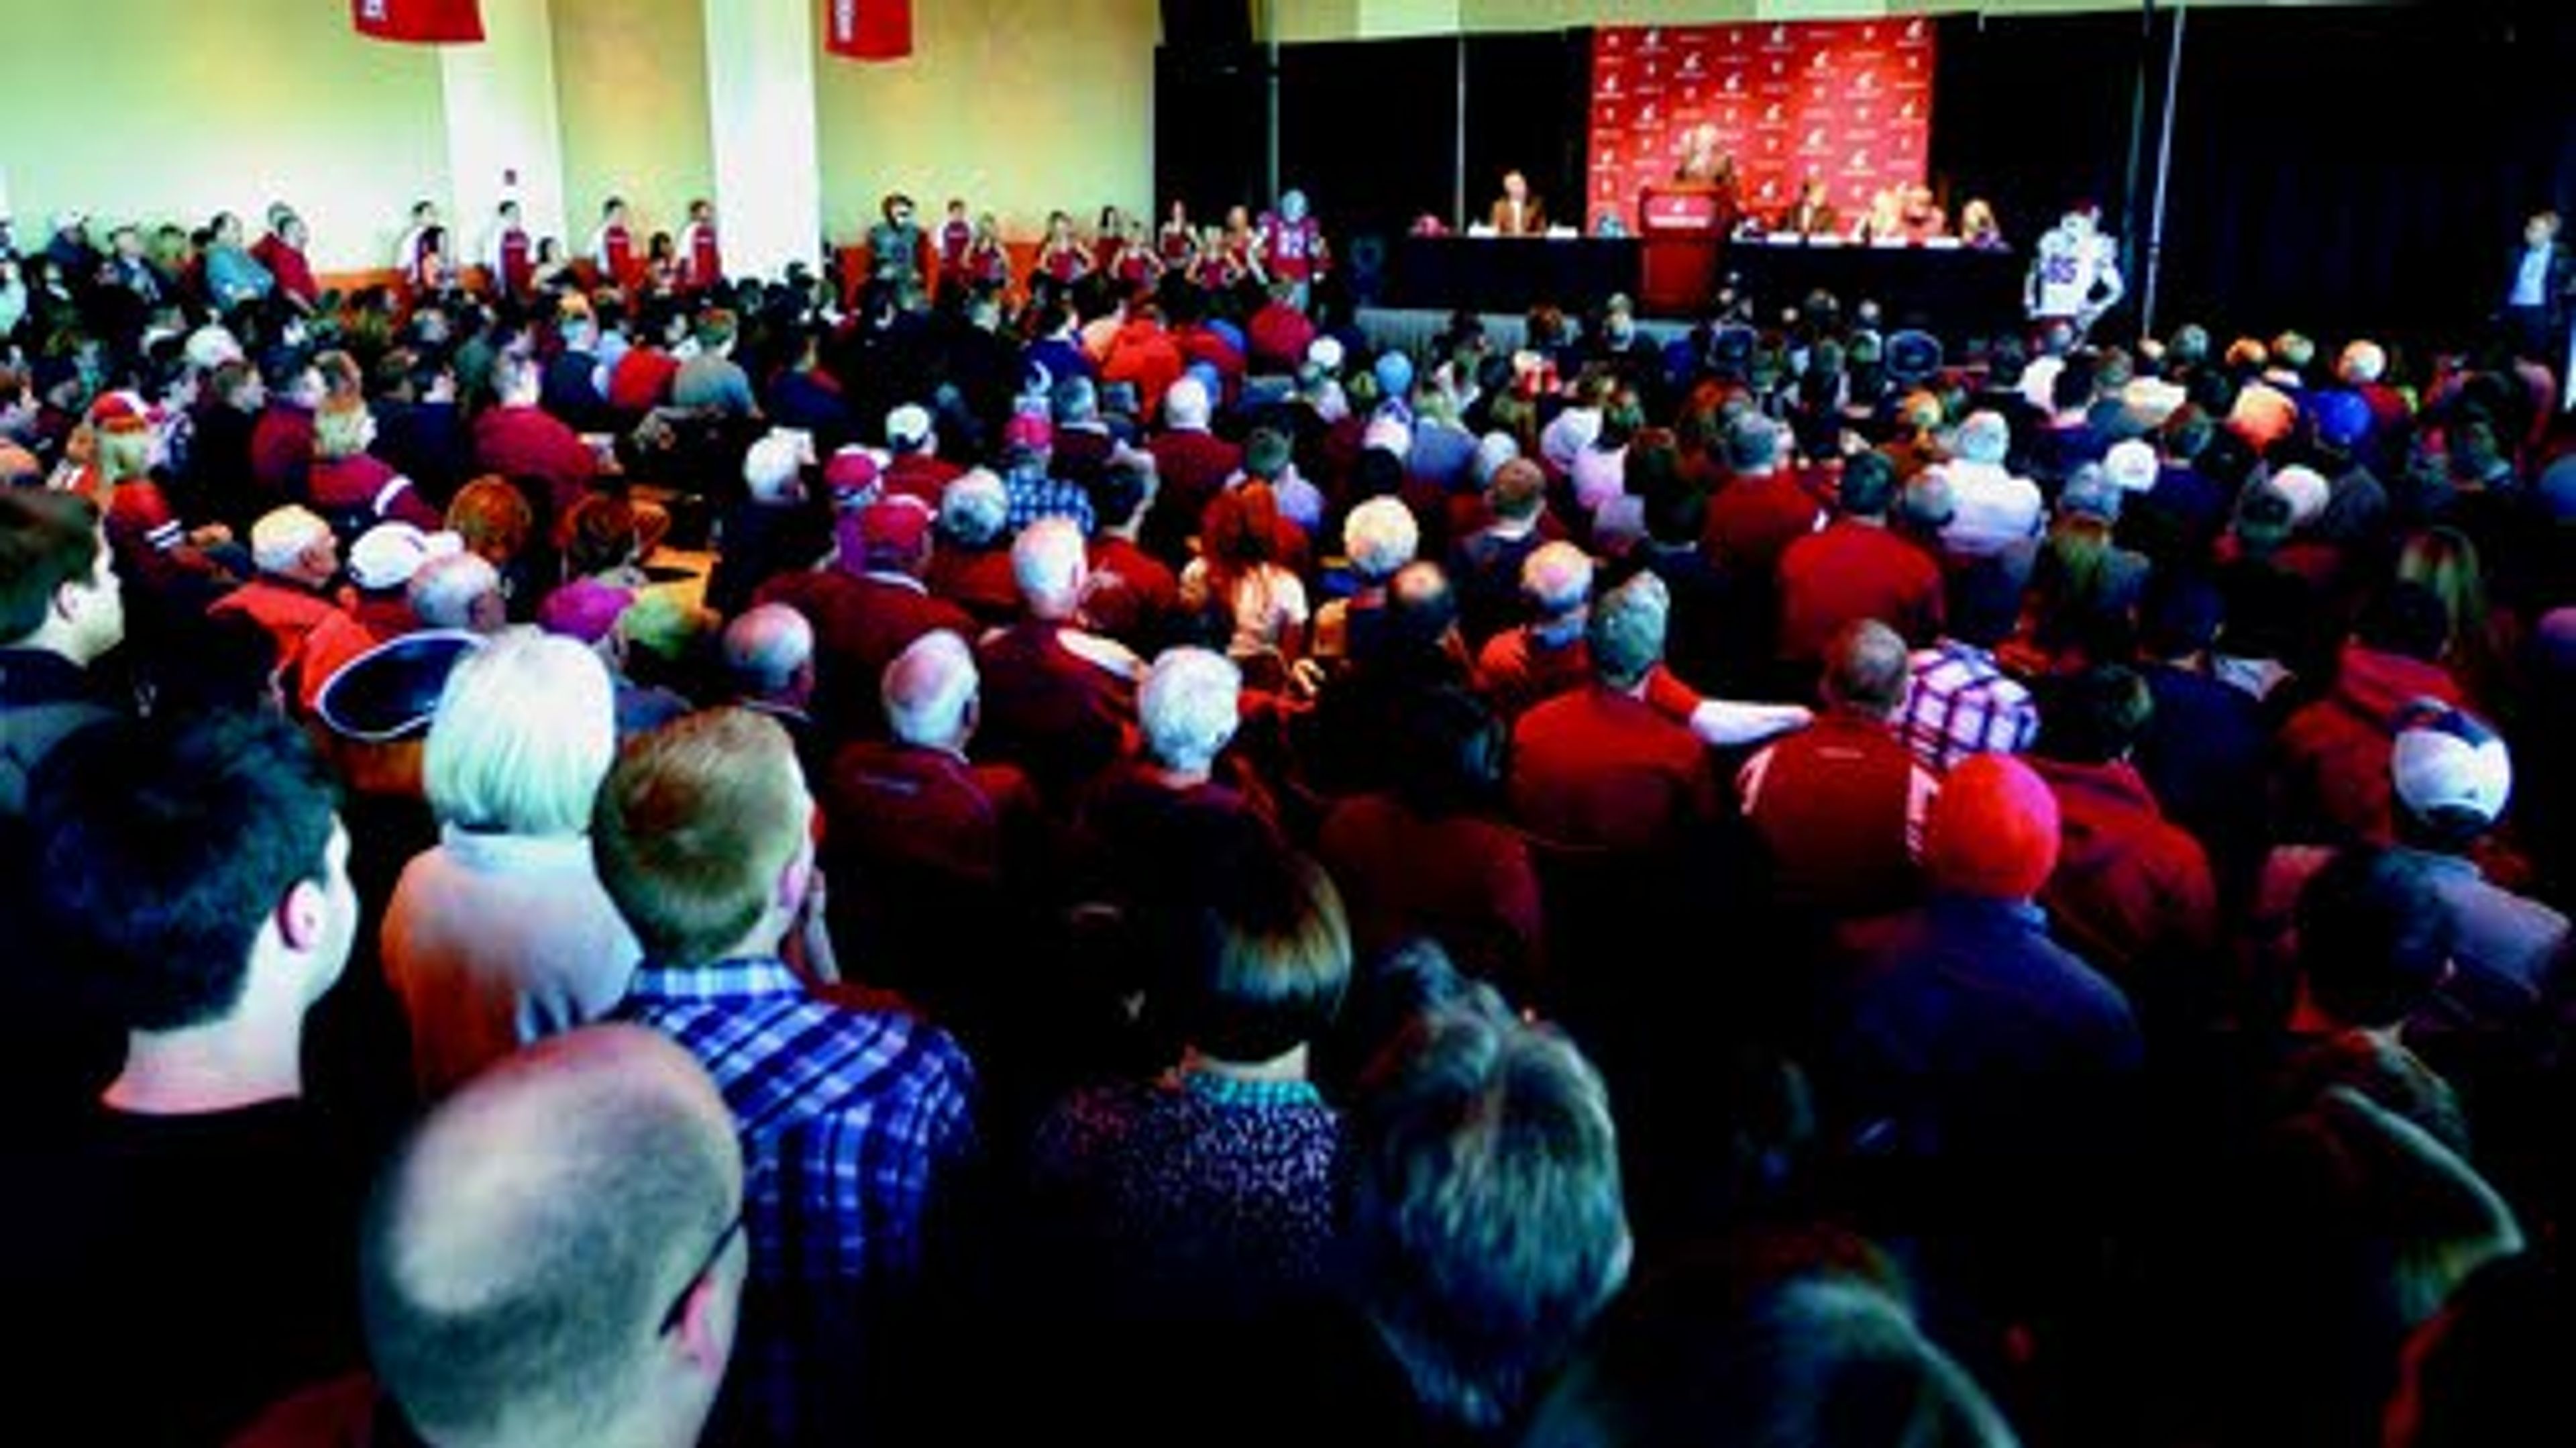
[[[639,946],[590,863],[613,755],[608,665],[574,639],[510,629],[448,675],[422,757],[438,845],[384,912],[425,1098],[626,995]]]

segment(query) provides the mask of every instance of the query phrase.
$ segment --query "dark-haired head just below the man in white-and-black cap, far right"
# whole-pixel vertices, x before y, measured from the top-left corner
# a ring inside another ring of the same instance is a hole
[[[2354,845],[2298,891],[2298,974],[2344,1025],[2383,1031],[2414,1015],[2450,974],[2450,912],[2424,866]]]

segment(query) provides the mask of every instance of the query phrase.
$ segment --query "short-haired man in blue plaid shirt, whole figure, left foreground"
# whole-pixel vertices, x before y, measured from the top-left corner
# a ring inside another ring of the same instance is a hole
[[[644,946],[618,1015],[688,1046],[734,1113],[752,1183],[739,1409],[783,1443],[904,1422],[878,1394],[904,1384],[904,1309],[974,1139],[945,1033],[814,997],[837,964],[811,817],[786,732],[719,709],[631,742],[590,822]],[[806,979],[781,958],[791,938]]]

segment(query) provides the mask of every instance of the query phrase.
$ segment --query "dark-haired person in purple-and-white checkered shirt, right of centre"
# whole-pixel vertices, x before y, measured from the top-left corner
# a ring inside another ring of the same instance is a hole
[[[2040,732],[2030,691],[1994,662],[2020,618],[2020,572],[2009,557],[1953,572],[1942,636],[1914,649],[1896,737],[1932,773],[1968,755],[2020,755]]]

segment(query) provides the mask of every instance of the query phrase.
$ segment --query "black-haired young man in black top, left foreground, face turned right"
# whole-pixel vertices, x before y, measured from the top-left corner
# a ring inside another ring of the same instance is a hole
[[[49,760],[31,830],[54,964],[80,961],[129,1036],[77,1131],[13,1165],[46,1183],[10,1203],[44,1242],[18,1265],[46,1322],[23,1396],[116,1443],[222,1443],[358,1363],[368,1157],[301,1067],[358,933],[332,781],[276,716],[98,729]]]

